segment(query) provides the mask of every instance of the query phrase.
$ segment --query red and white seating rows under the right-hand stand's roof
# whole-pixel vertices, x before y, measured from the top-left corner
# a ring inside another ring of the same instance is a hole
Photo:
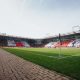
[[[45,45],[47,48],[56,48],[56,47],[80,47],[80,39],[76,40],[67,40],[62,42],[50,42]]]

